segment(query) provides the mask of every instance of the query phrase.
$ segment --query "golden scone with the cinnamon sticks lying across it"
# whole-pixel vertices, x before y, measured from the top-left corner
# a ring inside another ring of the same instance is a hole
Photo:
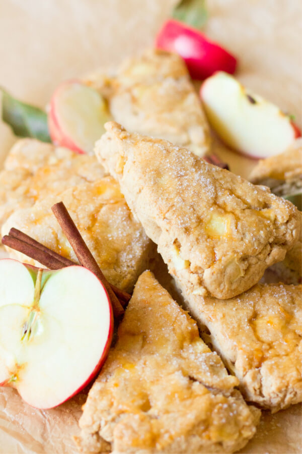
[[[148,266],[154,245],[131,214],[112,177],[74,186],[45,197],[30,208],[12,214],[2,235],[12,227],[71,260],[77,261],[70,244],[51,211],[63,201],[107,280],[130,292],[139,274]],[[12,257],[38,265],[25,255],[7,248]]]

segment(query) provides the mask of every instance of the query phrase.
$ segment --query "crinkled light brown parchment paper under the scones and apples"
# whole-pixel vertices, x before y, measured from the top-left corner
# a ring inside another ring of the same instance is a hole
[[[63,79],[114,67],[153,43],[176,0],[0,0],[0,85],[44,106]],[[293,113],[301,124],[302,29],[299,0],[208,0],[207,34],[239,58],[238,78]],[[255,134],[257,131],[255,131]],[[0,123],[0,165],[15,138]],[[219,148],[246,177],[255,161]],[[169,280],[164,271],[160,280]],[[62,377],[62,380],[67,377]],[[0,452],[77,452],[72,435],[83,391],[56,409],[29,407],[0,389]],[[263,412],[257,434],[241,451],[302,452],[301,408]]]

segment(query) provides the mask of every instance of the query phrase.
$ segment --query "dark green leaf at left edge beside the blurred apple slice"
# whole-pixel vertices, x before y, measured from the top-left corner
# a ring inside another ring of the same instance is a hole
[[[16,136],[33,137],[42,142],[51,142],[46,113],[29,104],[13,98],[4,88],[2,91],[2,120]]]

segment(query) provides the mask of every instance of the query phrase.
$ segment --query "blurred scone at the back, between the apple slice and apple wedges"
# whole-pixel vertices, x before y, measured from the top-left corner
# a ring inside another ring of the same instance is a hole
[[[201,101],[179,55],[150,49],[123,63],[109,99],[128,131],[171,140],[203,155],[210,146]]]

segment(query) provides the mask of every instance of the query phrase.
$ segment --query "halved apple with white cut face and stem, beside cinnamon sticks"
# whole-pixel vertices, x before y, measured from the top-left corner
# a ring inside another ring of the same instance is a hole
[[[52,408],[83,389],[104,363],[112,331],[109,297],[87,268],[0,260],[0,385],[29,405]]]

